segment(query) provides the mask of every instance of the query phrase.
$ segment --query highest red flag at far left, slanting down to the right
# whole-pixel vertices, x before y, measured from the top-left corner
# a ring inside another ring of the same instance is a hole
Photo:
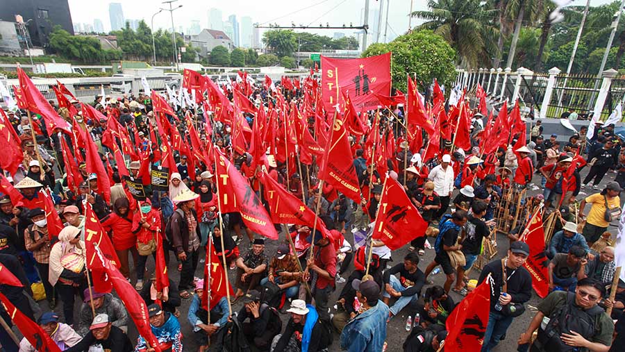
[[[26,109],[42,115],[46,128],[52,132],[59,128],[65,133],[72,133],[67,121],[62,119],[56,111],[50,106],[41,92],[35,87],[31,78],[26,76],[21,67],[17,67],[17,78],[19,79],[19,90],[22,94],[23,101],[27,104]]]

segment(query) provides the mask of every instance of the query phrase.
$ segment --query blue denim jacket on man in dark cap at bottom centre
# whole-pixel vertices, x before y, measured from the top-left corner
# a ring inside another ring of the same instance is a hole
[[[341,333],[341,349],[349,352],[380,352],[386,340],[388,305],[378,304],[353,318]]]

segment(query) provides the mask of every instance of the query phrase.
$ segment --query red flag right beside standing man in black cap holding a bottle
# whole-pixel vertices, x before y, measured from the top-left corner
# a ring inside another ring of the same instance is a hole
[[[544,252],[544,228],[540,211],[534,214],[523,231],[521,241],[530,247],[530,255],[523,266],[532,276],[534,291],[544,299],[549,294],[549,274],[547,273],[549,259]]]

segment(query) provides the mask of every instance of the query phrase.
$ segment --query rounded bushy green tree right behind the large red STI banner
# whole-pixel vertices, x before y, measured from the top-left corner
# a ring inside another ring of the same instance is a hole
[[[370,45],[363,58],[391,51],[393,86],[406,92],[406,74],[416,74],[419,85],[429,85],[437,78],[449,85],[456,78],[456,51],[446,40],[432,31],[415,31],[401,35],[388,44]]]

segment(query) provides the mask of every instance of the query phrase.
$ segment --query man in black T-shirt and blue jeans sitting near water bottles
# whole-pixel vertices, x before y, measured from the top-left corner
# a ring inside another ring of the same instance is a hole
[[[388,305],[391,296],[397,298],[388,312],[389,319],[397,315],[408,303],[419,299],[421,289],[425,285],[425,276],[418,265],[419,255],[410,252],[403,257],[403,262],[384,271],[383,301]],[[399,278],[394,274],[399,274]]]

